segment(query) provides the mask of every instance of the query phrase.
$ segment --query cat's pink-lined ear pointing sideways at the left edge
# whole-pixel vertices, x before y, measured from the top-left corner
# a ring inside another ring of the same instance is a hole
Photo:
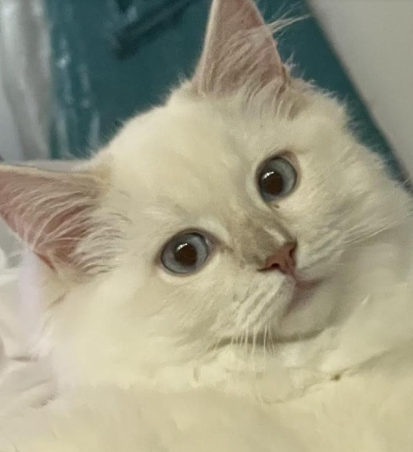
[[[104,265],[104,243],[95,243],[104,235],[96,214],[103,186],[88,172],[0,166],[0,215],[49,267],[96,271]]]

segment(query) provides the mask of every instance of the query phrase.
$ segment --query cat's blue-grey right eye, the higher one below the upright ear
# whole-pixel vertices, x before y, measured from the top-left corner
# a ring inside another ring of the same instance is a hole
[[[258,174],[258,186],[262,198],[273,201],[286,196],[297,183],[297,171],[284,157],[268,160]]]

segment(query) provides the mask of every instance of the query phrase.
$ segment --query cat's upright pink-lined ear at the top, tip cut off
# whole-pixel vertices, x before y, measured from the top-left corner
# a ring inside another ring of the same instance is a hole
[[[204,49],[192,79],[199,94],[225,95],[271,81],[282,89],[288,75],[270,29],[253,0],[212,2]]]

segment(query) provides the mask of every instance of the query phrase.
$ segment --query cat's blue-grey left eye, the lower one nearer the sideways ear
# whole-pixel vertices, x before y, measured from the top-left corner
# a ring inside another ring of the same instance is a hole
[[[189,274],[198,270],[208,259],[208,240],[198,232],[173,237],[163,248],[162,265],[172,273]]]

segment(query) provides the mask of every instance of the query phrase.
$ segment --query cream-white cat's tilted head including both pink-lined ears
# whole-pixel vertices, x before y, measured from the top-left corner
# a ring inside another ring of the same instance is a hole
[[[407,206],[252,0],[215,0],[193,79],[81,170],[0,170],[0,212],[42,261],[43,346],[95,380],[322,329],[335,300],[307,291]]]

